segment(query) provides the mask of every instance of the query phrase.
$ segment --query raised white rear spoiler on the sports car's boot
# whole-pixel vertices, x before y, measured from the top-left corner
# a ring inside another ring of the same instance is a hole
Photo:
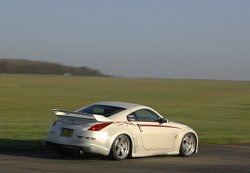
[[[53,109],[52,112],[54,115],[58,117],[64,116],[64,117],[76,117],[76,118],[82,118],[82,119],[96,120],[96,121],[111,121],[110,119],[102,115],[71,112],[71,111],[64,111],[60,109]]]

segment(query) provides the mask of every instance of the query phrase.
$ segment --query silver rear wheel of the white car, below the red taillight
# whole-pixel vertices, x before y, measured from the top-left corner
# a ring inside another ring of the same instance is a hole
[[[127,135],[119,135],[113,142],[110,155],[115,160],[126,159],[130,152],[130,140]]]

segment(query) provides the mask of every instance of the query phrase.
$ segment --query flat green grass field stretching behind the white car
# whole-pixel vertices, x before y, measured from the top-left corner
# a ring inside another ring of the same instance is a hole
[[[250,81],[0,74],[0,148],[37,144],[53,108],[110,100],[153,107],[191,126],[201,143],[250,143]]]

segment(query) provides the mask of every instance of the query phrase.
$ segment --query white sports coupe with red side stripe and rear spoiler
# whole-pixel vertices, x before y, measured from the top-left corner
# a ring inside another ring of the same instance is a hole
[[[154,155],[191,156],[198,136],[150,107],[125,102],[94,103],[75,112],[53,110],[58,117],[45,142],[62,151],[78,149],[115,160]]]

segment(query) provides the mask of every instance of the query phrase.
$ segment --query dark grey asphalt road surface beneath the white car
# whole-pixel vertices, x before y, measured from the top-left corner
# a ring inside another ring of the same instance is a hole
[[[0,173],[250,173],[250,144],[201,145],[189,158],[158,156],[113,161],[105,157],[58,156],[53,152],[0,153]]]

